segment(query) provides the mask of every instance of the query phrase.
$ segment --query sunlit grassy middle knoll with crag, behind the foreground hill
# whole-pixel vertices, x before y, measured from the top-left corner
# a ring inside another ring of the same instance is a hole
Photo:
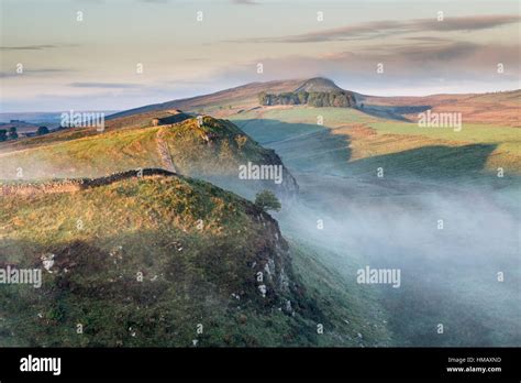
[[[190,119],[174,127],[111,130],[100,134],[75,129],[0,145],[0,178],[15,178],[18,168],[22,168],[23,178],[31,179],[98,177],[137,167],[162,167],[156,141],[159,131],[164,132],[176,169],[185,175],[236,177],[239,164],[276,161],[271,151],[259,146],[233,124],[207,117],[202,128]],[[211,144],[204,141],[208,134],[215,135]]]

